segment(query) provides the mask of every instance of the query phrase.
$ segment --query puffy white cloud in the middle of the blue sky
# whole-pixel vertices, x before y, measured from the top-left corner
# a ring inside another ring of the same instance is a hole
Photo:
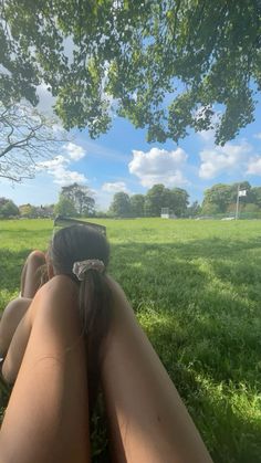
[[[187,155],[181,148],[173,151],[152,148],[148,152],[133,150],[133,160],[128,164],[129,172],[137,176],[144,187],[164,183],[166,187],[187,185],[181,167]]]

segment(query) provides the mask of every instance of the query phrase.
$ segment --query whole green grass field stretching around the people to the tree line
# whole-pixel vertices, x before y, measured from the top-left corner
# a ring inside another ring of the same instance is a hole
[[[216,463],[261,462],[260,221],[104,220],[109,271]],[[51,221],[0,222],[0,308]]]

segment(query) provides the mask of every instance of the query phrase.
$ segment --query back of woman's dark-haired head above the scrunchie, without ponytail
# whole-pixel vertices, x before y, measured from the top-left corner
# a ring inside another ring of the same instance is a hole
[[[109,246],[102,233],[91,227],[75,224],[61,229],[54,234],[49,255],[54,274],[74,277],[74,263],[88,259],[102,261],[106,270]]]

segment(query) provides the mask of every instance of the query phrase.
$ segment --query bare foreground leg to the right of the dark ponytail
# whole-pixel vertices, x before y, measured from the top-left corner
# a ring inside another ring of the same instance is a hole
[[[122,290],[102,369],[114,463],[210,463],[181,399]]]

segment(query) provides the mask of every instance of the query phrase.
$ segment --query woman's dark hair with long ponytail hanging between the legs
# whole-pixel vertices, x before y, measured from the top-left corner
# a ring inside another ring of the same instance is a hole
[[[71,276],[80,285],[79,308],[87,352],[87,378],[90,413],[97,397],[103,341],[109,320],[112,293],[104,277],[108,265],[109,246],[104,234],[85,225],[71,225],[59,230],[50,246],[50,257],[55,274]],[[103,261],[103,273],[88,270],[80,282],[73,274],[73,264],[87,259]]]

